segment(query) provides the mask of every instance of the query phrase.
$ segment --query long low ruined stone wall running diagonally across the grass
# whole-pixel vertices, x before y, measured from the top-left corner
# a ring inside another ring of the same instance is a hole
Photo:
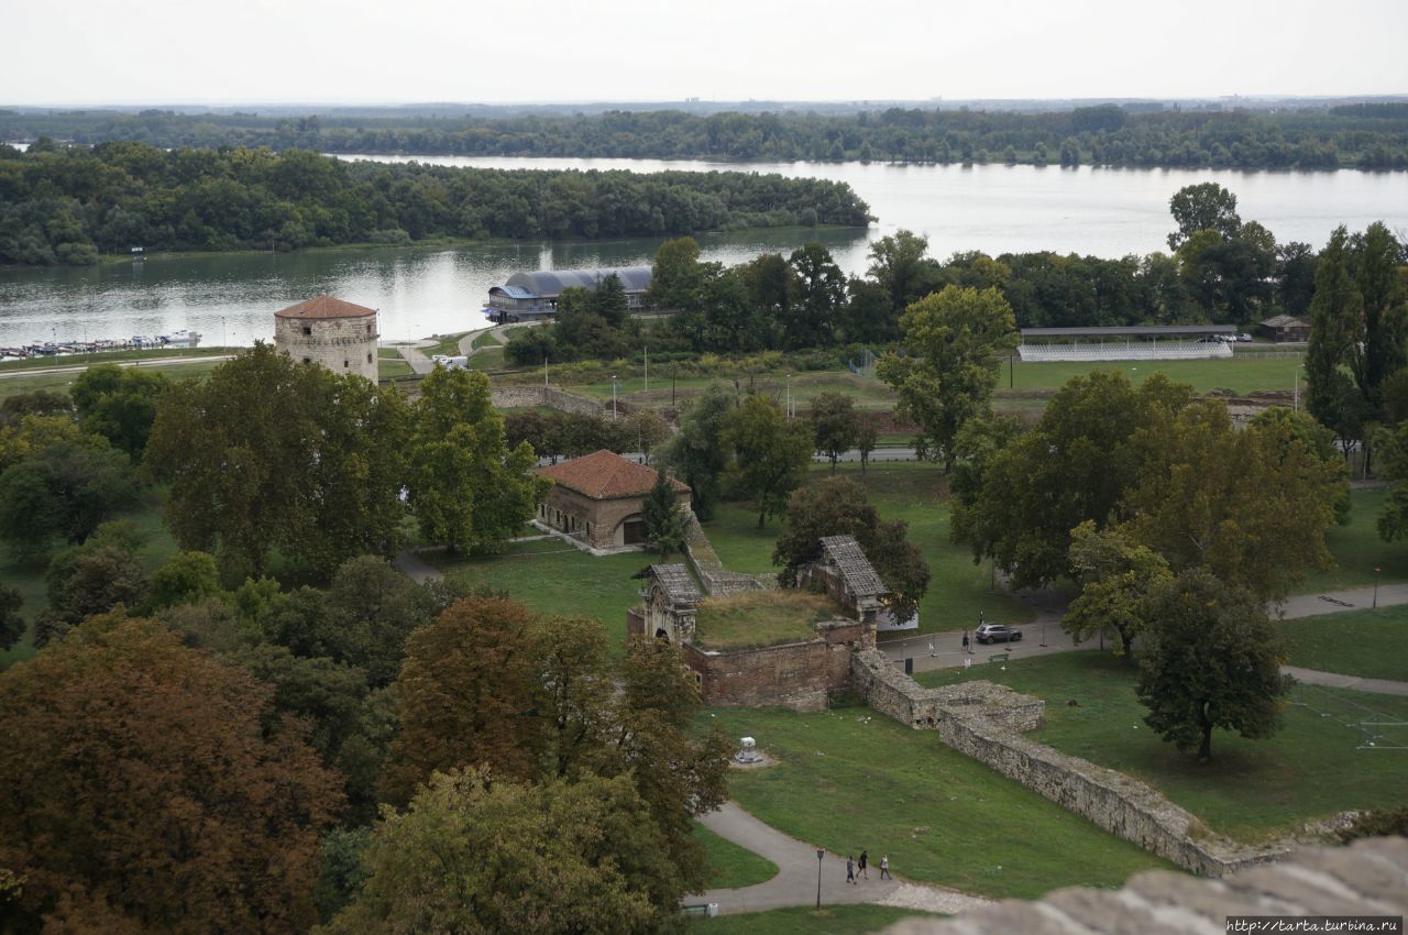
[[[879,651],[856,653],[852,690],[876,711],[938,731],[960,753],[1194,873],[1222,876],[1284,855],[1214,835],[1145,783],[1026,739],[1021,732],[1045,718],[1039,698],[990,682],[924,689]]]

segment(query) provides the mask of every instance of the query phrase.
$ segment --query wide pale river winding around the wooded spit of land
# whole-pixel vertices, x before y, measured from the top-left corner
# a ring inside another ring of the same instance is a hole
[[[387,162],[408,159],[383,158]],[[1050,249],[1122,256],[1167,249],[1169,197],[1218,182],[1245,220],[1277,241],[1319,248],[1346,224],[1408,230],[1408,173],[891,166],[881,163],[710,163],[650,159],[425,158],[456,166],[777,172],[849,182],[879,218],[869,230],[801,228],[700,237],[705,259],[738,263],[822,241],[849,273],[869,244],[900,228],[929,252]],[[203,344],[248,345],[273,335],[272,313],[318,293],[379,308],[382,334],[417,338],[482,324],[490,286],[520,270],[648,265],[662,238],[484,244],[435,249],[337,249],[151,259],[87,269],[0,269],[0,346],[200,331]]]

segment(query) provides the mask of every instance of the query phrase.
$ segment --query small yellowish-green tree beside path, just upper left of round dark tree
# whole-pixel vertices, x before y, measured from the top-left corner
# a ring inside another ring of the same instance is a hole
[[[1080,596],[1062,617],[1062,629],[1077,644],[1114,629],[1119,634],[1115,653],[1132,656],[1135,636],[1149,628],[1145,598],[1173,577],[1169,563],[1118,529],[1097,531],[1086,520],[1070,532],[1070,567]]]

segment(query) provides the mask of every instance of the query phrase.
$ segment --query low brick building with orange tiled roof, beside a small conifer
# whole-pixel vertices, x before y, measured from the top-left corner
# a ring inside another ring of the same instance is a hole
[[[546,500],[538,504],[539,525],[596,549],[645,544],[645,497],[655,486],[655,468],[603,449],[539,468],[538,476],[553,482]],[[669,480],[676,503],[689,510],[689,486]]]

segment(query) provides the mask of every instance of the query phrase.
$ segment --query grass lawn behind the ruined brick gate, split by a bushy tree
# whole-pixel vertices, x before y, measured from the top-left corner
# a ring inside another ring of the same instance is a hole
[[[949,538],[949,501],[941,497],[943,475],[938,465],[883,462],[870,465],[865,475],[859,465],[841,465],[836,473],[865,484],[881,518],[910,522],[910,541],[924,552],[932,575],[929,590],[919,601],[919,632],[973,628],[980,613],[1000,624],[1032,620],[1031,607],[1010,597],[1001,587],[990,590],[988,566],[973,565],[972,551]],[[817,483],[828,476],[829,466],[814,465],[808,480]],[[777,570],[772,555],[781,525],[772,520],[759,529],[755,510],[748,504],[729,503],[704,524],[704,531],[725,567],[760,575]]]

